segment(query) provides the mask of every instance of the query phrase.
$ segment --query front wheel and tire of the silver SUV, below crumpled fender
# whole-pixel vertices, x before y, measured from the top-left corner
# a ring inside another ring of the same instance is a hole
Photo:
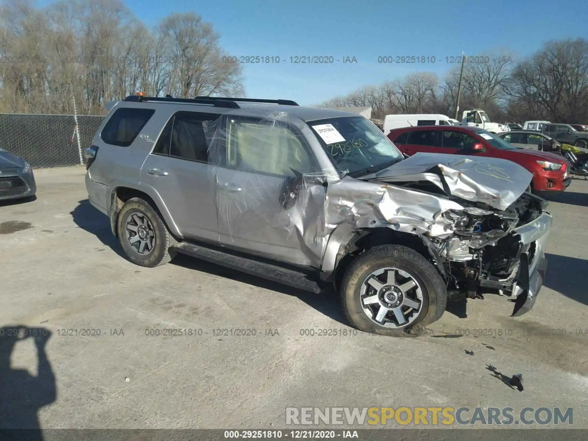
[[[343,310],[357,329],[387,336],[439,320],[447,290],[429,260],[411,248],[380,245],[349,265],[340,288]]]

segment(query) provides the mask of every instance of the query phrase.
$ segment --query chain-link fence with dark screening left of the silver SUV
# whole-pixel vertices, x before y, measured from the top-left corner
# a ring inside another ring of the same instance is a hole
[[[104,116],[79,116],[79,145],[83,151]],[[74,115],[0,113],[0,148],[26,159],[33,167],[79,165],[80,151]]]

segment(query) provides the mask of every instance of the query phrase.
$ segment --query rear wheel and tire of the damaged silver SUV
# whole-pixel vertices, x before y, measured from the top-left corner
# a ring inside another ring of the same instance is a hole
[[[131,198],[118,213],[118,239],[131,262],[153,268],[175,257],[176,244],[159,214],[141,198]]]

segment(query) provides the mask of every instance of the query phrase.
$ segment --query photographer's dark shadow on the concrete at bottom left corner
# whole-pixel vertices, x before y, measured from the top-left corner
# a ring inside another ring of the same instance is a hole
[[[10,364],[16,343],[27,338],[35,342],[38,359],[36,376],[26,369],[12,369]],[[0,328],[0,430],[34,429],[19,435],[10,432],[19,439],[43,439],[37,413],[41,407],[56,399],[55,375],[45,352],[49,338],[51,331],[46,328]]]

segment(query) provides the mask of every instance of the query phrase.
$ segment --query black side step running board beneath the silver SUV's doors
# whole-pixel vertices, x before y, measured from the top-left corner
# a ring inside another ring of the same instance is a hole
[[[273,280],[274,282],[292,286],[293,288],[304,289],[313,293],[322,291],[315,280],[309,279],[305,273],[293,269],[286,269],[278,265],[272,265],[271,263],[235,256],[189,242],[178,243],[173,249],[198,259],[218,263],[218,265]]]

